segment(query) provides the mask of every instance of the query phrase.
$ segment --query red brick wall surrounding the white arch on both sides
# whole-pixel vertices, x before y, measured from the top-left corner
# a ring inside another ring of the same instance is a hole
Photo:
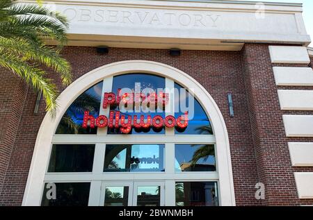
[[[207,89],[223,114],[236,205],[313,204],[297,196],[293,172],[313,169],[291,167],[287,142],[302,139],[285,137],[268,45],[246,44],[241,52],[182,51],[174,57],[157,49],[111,48],[109,54],[99,55],[93,47],[75,46],[66,47],[63,54],[72,64],[74,79],[122,60],[152,60],[181,69]],[[21,205],[45,106],[42,101],[39,114],[34,115],[35,92],[10,71],[1,69],[0,77],[0,117],[6,121],[0,126],[0,205]],[[64,89],[57,78],[56,83]],[[234,101],[233,118],[227,107],[228,92]],[[266,185],[265,201],[255,199],[259,182]]]

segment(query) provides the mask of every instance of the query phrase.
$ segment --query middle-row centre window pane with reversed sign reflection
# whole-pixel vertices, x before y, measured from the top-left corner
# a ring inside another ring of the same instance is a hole
[[[104,172],[164,171],[164,144],[107,144]]]

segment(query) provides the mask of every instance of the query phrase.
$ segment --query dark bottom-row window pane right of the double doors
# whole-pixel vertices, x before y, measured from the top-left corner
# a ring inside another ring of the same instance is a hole
[[[177,206],[218,206],[216,182],[177,182]]]

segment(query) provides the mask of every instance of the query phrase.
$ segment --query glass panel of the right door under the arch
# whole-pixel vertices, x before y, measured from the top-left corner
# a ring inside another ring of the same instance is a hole
[[[137,206],[160,206],[160,186],[138,187]]]

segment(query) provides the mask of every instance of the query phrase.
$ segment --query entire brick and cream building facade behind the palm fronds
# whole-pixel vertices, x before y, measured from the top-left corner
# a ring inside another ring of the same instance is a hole
[[[45,3],[70,21],[74,81],[47,70],[61,90],[51,118],[1,69],[1,205],[313,205],[301,4]],[[163,107],[143,110],[147,88]]]

